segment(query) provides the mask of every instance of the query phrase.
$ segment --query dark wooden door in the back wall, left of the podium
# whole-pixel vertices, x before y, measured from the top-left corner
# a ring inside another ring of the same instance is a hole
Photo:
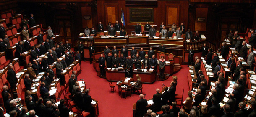
[[[72,15],[55,15],[55,29],[56,33],[60,34],[60,38],[63,43],[73,43],[73,22]]]

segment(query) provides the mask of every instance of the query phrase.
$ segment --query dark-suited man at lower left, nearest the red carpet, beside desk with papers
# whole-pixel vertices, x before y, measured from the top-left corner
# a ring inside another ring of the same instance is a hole
[[[89,90],[86,89],[84,91],[84,94],[83,94],[83,98],[84,98],[84,110],[86,112],[90,112],[90,116],[91,117],[95,117],[94,115],[94,108],[92,107],[92,99],[91,99],[91,96],[88,94],[89,93]]]

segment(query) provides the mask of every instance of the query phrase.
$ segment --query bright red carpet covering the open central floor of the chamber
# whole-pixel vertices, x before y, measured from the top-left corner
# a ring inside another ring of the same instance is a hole
[[[78,79],[84,79],[86,82],[86,88],[90,88],[91,97],[99,101],[99,117],[132,117],[132,106],[133,103],[139,99],[139,96],[133,94],[131,97],[128,96],[121,98],[118,96],[118,89],[115,93],[109,92],[109,84],[106,79],[97,76],[95,69],[89,61],[81,62],[81,74],[79,74]],[[176,94],[182,94],[184,89],[184,98],[188,95],[188,67],[182,66],[182,69],[174,74],[178,77],[178,86],[176,89]],[[80,80],[79,80],[80,81]],[[156,89],[162,90],[162,83],[165,86],[170,86],[172,81],[172,76],[165,81],[156,81],[153,84],[143,84],[143,92],[146,94],[146,99],[152,98],[153,94],[156,93]],[[115,83],[115,82],[114,82]]]

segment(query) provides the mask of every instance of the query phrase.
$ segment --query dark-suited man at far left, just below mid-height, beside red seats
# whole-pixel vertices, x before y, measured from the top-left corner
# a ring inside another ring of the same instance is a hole
[[[8,65],[8,71],[7,71],[7,77],[6,79],[8,80],[8,82],[10,83],[10,91],[13,91],[13,89],[16,88],[16,83],[17,83],[17,77],[16,77],[16,73],[13,70],[13,65],[9,64]]]

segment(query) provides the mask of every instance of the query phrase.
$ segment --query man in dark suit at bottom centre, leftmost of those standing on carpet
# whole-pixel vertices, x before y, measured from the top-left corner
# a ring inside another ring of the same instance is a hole
[[[140,99],[136,102],[136,117],[144,116],[146,113],[146,106],[148,102],[146,99],[143,99],[144,95],[140,94]]]

